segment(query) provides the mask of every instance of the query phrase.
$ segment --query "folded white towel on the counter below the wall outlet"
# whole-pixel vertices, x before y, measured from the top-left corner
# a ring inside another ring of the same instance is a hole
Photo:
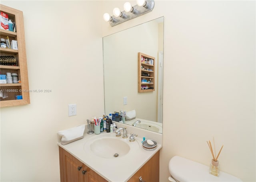
[[[73,141],[84,138],[84,125],[78,125],[77,127],[73,127],[70,129],[65,129],[62,131],[58,131],[58,135],[61,137],[61,145],[66,145]]]

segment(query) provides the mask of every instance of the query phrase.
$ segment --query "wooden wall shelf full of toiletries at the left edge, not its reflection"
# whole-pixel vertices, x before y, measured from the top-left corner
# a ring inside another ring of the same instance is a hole
[[[0,48],[1,56],[12,55],[16,59],[16,66],[0,65],[0,72],[1,74],[6,74],[6,72],[17,73],[18,80],[21,81],[21,83],[0,84],[1,95],[8,96],[0,98],[0,106],[30,104],[23,13],[2,4],[0,4],[0,11],[8,14],[9,19],[16,23],[16,32],[0,29],[0,37],[6,38],[8,36],[10,41],[16,40],[18,42],[18,50]],[[22,95],[22,99],[16,100],[15,95]]]

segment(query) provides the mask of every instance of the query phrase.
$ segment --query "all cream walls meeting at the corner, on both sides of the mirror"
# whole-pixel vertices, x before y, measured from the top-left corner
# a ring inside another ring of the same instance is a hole
[[[30,105],[1,108],[1,181],[59,180],[56,132],[104,112],[102,36],[160,16],[165,21],[160,181],[167,181],[174,155],[208,165],[206,140],[213,136],[217,148],[224,144],[221,170],[256,181],[254,1],[156,1],[152,12],[115,27],[102,14],[112,14],[124,1],[1,3],[24,12],[30,89],[52,89],[31,93]],[[50,16],[58,21],[50,22]],[[77,26],[69,28],[67,20]],[[67,44],[70,37],[76,47]],[[96,86],[102,89],[92,89]],[[78,115],[68,117],[67,105],[73,103]]]

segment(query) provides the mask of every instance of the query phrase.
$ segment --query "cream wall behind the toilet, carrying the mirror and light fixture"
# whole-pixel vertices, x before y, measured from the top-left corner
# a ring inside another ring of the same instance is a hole
[[[107,1],[103,12],[122,9]],[[132,2],[136,4],[136,2]],[[103,13],[102,12],[102,13]],[[103,35],[164,16],[164,116],[160,181],[180,155],[206,165],[214,136],[221,170],[255,177],[255,1],[155,1],[152,12]]]

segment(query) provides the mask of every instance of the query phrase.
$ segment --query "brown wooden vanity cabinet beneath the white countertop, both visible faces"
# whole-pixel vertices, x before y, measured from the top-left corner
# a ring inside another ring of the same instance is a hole
[[[107,182],[94,170],[80,162],[73,155],[59,147],[61,182]],[[159,151],[128,182],[159,182]]]

